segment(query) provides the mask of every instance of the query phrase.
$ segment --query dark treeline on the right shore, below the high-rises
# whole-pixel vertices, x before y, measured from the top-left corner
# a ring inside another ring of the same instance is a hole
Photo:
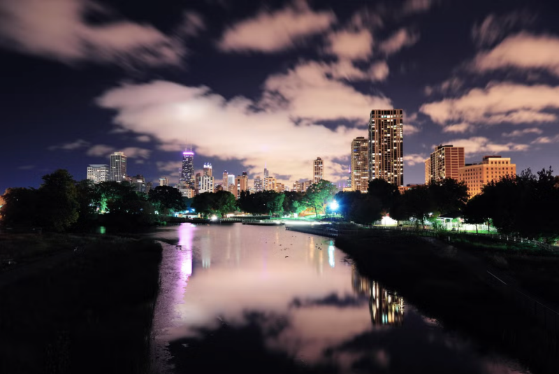
[[[552,243],[559,238],[559,177],[553,170],[530,169],[484,186],[468,200],[467,186],[451,178],[414,187],[404,194],[377,179],[368,193],[339,192],[335,199],[346,220],[370,224],[384,215],[393,220],[413,219],[423,228],[437,228],[437,217],[451,214],[468,224],[487,224],[500,233],[535,238]]]

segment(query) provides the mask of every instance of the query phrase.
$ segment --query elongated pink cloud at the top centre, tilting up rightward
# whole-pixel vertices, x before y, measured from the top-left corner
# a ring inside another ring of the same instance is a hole
[[[256,17],[225,31],[219,48],[224,51],[279,52],[293,48],[307,36],[326,31],[335,22],[332,12],[314,12],[306,1],[282,10],[261,11]]]

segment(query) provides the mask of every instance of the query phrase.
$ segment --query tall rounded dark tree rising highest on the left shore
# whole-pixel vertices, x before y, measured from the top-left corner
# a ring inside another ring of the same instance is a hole
[[[78,192],[68,171],[43,175],[38,195],[41,225],[47,229],[64,231],[78,221]]]

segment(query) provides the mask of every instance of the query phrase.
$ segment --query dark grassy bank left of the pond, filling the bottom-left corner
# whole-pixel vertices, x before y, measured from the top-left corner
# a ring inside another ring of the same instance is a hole
[[[63,261],[0,288],[0,373],[147,373],[161,246],[81,240]],[[0,277],[16,271],[26,269]]]

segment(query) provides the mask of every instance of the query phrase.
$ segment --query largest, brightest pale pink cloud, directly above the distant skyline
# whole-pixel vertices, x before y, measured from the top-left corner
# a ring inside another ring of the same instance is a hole
[[[189,134],[197,154],[240,160],[252,174],[261,173],[267,161],[273,174],[289,175],[282,182],[310,178],[317,156],[324,159],[325,177],[332,178],[345,168],[337,160],[347,158],[351,141],[366,135],[361,129],[332,130],[315,122],[366,123],[370,108],[390,107],[389,99],[361,94],[308,66],[273,75],[264,87],[264,106],[245,97],[226,100],[207,87],[166,81],[115,87],[98,103],[115,110],[119,127],[153,136],[161,144],[175,145],[177,138]],[[245,141],[232,141],[239,134],[246,135]],[[163,164],[158,167],[163,171]]]

